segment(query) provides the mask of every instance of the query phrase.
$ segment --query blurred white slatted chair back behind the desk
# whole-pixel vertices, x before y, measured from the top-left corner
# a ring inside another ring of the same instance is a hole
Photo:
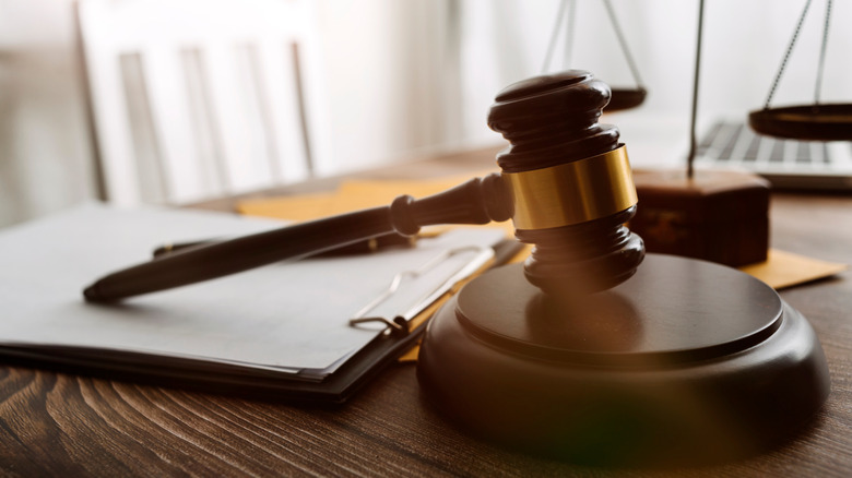
[[[187,203],[333,170],[310,0],[80,0],[103,195]]]

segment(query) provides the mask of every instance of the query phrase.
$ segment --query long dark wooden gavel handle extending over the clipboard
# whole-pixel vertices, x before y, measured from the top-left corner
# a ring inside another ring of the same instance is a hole
[[[296,224],[177,252],[96,280],[83,290],[91,302],[166,290],[294,261],[389,232],[417,234],[435,224],[486,224],[511,217],[511,201],[498,174],[474,178],[422,200],[397,198],[390,206]]]

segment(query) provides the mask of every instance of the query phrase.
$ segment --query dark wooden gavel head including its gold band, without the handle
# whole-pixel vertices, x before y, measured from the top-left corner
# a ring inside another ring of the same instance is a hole
[[[511,143],[497,163],[516,236],[535,244],[524,274],[553,296],[614,287],[644,258],[625,227],[637,204],[625,146],[617,128],[597,123],[608,100],[605,83],[569,70],[506,87],[488,115]]]

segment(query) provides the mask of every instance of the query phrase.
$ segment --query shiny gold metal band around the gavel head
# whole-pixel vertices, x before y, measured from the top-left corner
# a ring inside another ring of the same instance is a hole
[[[585,159],[501,176],[511,191],[516,229],[585,223],[638,201],[624,145]]]

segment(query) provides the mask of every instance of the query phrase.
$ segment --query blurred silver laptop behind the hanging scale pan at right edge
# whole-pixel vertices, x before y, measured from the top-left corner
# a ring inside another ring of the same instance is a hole
[[[776,189],[852,191],[852,142],[781,140],[720,120],[699,135],[697,168],[748,170]]]

